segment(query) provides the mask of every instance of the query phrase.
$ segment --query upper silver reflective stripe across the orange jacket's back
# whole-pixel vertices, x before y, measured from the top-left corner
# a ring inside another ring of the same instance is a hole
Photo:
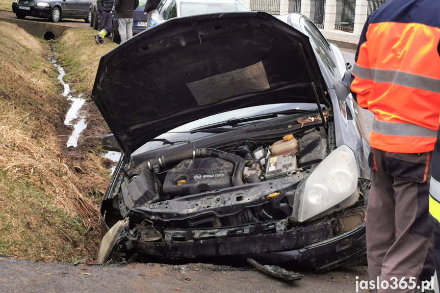
[[[370,69],[355,64],[353,75],[377,83],[391,83],[437,94],[440,93],[440,80],[418,74],[397,70]]]

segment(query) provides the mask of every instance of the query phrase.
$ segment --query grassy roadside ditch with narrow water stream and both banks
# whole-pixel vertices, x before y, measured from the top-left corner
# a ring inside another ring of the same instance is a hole
[[[114,163],[102,157],[110,131],[89,97],[100,56],[115,45],[97,48],[90,30],[48,43],[0,24],[0,254],[93,260]]]

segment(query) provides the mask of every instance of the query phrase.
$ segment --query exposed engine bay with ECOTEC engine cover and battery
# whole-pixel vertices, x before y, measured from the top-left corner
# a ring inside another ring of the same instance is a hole
[[[268,143],[249,138],[228,148],[180,151],[135,167],[128,163],[106,216],[112,212],[122,219],[132,212],[133,222],[146,216],[173,228],[286,219],[292,216],[298,183],[334,143],[323,127],[280,139]]]

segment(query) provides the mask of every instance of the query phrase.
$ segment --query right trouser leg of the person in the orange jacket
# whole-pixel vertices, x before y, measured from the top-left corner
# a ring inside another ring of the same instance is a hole
[[[428,220],[430,156],[431,153],[387,153],[386,171],[395,177],[396,241],[383,259],[380,280],[386,280],[390,285],[399,284],[402,278],[405,278],[406,283],[412,280],[416,284],[424,264],[424,275],[434,275],[431,255],[428,254],[433,245],[432,228]],[[396,289],[379,291],[406,293],[414,290],[398,286]]]

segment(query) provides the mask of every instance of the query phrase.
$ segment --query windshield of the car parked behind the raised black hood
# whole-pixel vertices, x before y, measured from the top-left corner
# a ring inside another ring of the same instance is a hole
[[[249,11],[249,9],[239,2],[235,3],[204,3],[204,2],[183,2],[180,4],[182,16],[221,13],[230,11]]]

